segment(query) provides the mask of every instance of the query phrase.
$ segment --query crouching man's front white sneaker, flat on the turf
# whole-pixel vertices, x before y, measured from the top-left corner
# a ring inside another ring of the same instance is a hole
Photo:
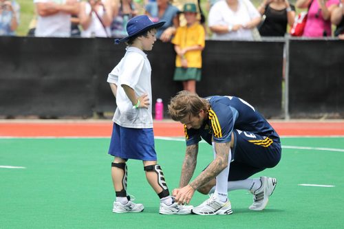
[[[209,199],[206,199],[202,204],[193,208],[193,213],[197,215],[231,215],[233,214],[232,206],[229,199],[226,202],[222,202],[216,198],[215,195],[211,195]]]

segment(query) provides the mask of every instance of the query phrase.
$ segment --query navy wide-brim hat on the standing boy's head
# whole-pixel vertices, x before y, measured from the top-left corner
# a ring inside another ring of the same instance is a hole
[[[151,19],[147,15],[139,15],[130,19],[127,23],[127,33],[128,36],[122,39],[116,39],[115,43],[119,44],[121,42],[128,41],[131,37],[140,34],[141,32],[145,32],[150,30],[151,28],[160,28],[164,25],[166,21],[159,21],[157,23],[153,23]]]

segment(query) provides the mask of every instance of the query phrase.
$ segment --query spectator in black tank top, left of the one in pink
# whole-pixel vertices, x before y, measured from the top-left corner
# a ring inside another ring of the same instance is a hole
[[[287,25],[294,24],[295,7],[288,0],[264,0],[257,10],[264,17],[259,28],[261,36],[284,36]]]

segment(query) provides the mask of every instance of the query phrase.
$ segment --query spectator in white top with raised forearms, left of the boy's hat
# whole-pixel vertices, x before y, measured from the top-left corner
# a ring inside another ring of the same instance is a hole
[[[82,37],[109,37],[112,21],[110,0],[89,0],[80,5],[80,25]]]

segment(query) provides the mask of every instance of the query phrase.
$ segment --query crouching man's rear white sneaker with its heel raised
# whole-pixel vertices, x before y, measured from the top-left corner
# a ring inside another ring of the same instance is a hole
[[[253,204],[249,207],[250,210],[263,210],[268,204],[269,197],[274,192],[277,179],[273,177],[260,177],[261,186],[253,194]]]

